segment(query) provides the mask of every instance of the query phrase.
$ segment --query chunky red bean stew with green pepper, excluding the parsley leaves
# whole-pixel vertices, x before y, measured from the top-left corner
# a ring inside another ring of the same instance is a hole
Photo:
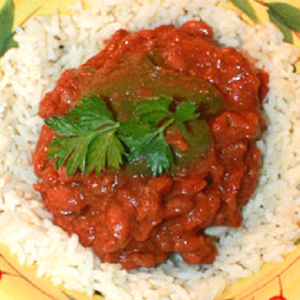
[[[41,101],[40,116],[64,115],[82,96],[96,94],[124,119],[137,99],[167,94],[186,101],[206,93],[199,106],[210,111],[205,117],[210,136],[203,138],[202,123],[194,124],[192,134],[192,140],[201,136],[205,149],[187,152],[171,175],[154,178],[133,166],[67,177],[65,167],[56,170],[55,160],[46,157],[55,133],[44,125],[34,153],[40,178],[34,187],[55,224],[78,234],[102,262],[150,268],[177,252],[189,264],[210,264],[217,251],[205,228],[240,226],[241,207],[255,189],[260,166],[255,138],[264,125],[259,109],[267,83],[268,75],[253,70],[241,53],[216,45],[203,22],[119,30],[104,50],[61,75]],[[166,139],[188,151],[178,130],[171,128]]]

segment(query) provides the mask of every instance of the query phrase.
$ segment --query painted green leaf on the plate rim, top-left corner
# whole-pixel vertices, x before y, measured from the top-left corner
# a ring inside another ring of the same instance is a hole
[[[13,40],[14,32],[12,31],[14,23],[15,6],[13,0],[6,0],[0,9],[0,57],[5,52],[18,44]]]

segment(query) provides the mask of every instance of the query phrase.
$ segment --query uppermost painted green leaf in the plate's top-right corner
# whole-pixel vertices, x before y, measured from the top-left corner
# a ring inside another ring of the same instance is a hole
[[[281,2],[271,2],[266,4],[269,9],[277,15],[277,19],[280,18],[283,20],[286,27],[300,32],[300,10],[298,8]]]

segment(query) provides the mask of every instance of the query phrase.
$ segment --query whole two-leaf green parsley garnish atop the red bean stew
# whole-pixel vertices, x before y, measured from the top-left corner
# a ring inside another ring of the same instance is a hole
[[[174,164],[165,130],[176,124],[184,136],[185,122],[199,117],[194,102],[182,102],[172,112],[172,101],[164,96],[135,101],[133,118],[117,122],[102,98],[82,98],[65,116],[45,120],[56,131],[48,157],[56,159],[57,169],[66,164],[68,176],[78,169],[96,174],[106,166],[119,170],[122,163],[141,159],[153,176],[161,175]]]

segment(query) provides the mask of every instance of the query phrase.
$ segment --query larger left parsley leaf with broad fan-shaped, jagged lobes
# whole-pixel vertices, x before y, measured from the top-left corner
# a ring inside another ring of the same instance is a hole
[[[66,163],[68,176],[78,169],[99,174],[106,165],[119,169],[125,152],[116,138],[119,124],[100,97],[83,98],[81,105],[65,116],[47,119],[45,123],[58,136],[49,145],[48,157],[57,159],[57,169]]]

